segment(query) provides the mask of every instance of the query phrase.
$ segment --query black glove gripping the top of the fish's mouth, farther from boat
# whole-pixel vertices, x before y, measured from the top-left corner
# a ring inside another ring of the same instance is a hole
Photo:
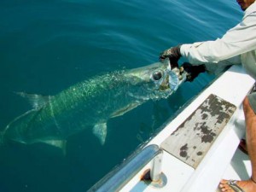
[[[162,61],[168,57],[171,62],[171,67],[178,67],[177,61],[181,57],[180,46],[181,45],[166,49],[164,52],[160,53],[160,60]]]

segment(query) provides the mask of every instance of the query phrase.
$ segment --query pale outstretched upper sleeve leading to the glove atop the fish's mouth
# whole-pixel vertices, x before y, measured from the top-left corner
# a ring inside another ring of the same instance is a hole
[[[256,49],[256,12],[247,15],[241,23],[215,41],[183,44],[181,55],[192,65],[237,58],[238,55]],[[236,59],[237,61],[237,59]]]

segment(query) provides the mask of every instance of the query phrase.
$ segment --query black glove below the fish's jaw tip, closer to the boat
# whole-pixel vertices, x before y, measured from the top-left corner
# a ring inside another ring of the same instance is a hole
[[[200,73],[206,72],[206,66],[204,64],[199,66],[192,66],[189,62],[184,62],[182,65],[185,72],[187,72],[186,81],[192,82]]]

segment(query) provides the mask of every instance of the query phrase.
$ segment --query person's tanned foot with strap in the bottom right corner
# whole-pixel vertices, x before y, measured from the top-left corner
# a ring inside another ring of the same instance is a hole
[[[249,179],[247,181],[236,181],[235,184],[241,188],[244,192],[255,192],[256,191],[256,183],[252,181],[252,179]],[[242,191],[242,190],[236,190],[232,189],[230,186],[229,180],[221,180],[219,185],[219,189],[224,192],[236,192],[236,191]]]

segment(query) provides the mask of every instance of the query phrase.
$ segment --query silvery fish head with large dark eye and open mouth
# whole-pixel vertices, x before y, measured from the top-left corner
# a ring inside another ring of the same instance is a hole
[[[140,87],[137,96],[141,94],[148,99],[160,99],[172,95],[185,80],[185,75],[179,68],[171,68],[168,58],[163,62],[133,69],[131,74],[133,84]]]

